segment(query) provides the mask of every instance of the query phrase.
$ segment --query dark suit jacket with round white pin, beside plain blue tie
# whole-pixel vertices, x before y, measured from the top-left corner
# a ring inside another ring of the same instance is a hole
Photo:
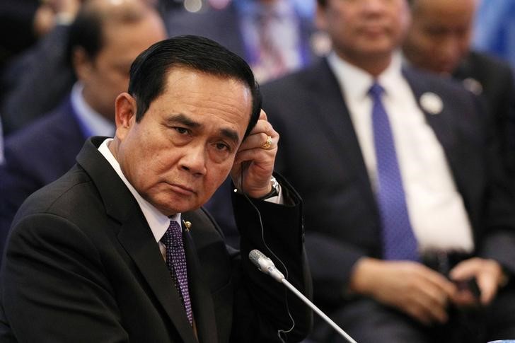
[[[405,71],[405,77],[415,98],[433,92],[444,103],[439,115],[424,114],[465,202],[475,254],[514,272],[514,199],[482,132],[475,97],[419,71]],[[276,168],[303,198],[315,298],[340,306],[354,263],[363,256],[381,258],[378,208],[342,90],[323,60],[263,86],[262,93],[263,108],[281,135]]]

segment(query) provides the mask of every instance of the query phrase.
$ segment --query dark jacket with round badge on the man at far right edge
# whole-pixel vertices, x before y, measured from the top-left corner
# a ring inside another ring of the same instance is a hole
[[[515,81],[507,62],[480,52],[470,52],[454,71],[465,88],[485,98],[501,144],[504,165],[515,178]],[[478,88],[475,83],[479,83]]]

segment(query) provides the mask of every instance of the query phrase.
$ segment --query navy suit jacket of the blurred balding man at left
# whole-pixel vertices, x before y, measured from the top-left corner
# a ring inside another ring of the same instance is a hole
[[[69,99],[6,139],[5,163],[0,165],[0,252],[22,202],[66,173],[85,139]]]

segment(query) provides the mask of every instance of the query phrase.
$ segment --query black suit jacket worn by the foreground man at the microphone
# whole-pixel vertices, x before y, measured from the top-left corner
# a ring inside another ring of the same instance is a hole
[[[74,168],[18,211],[0,272],[1,342],[196,342],[148,223],[97,150],[104,139],[88,139]],[[253,202],[289,281],[309,295],[299,197],[282,185],[291,206]],[[199,342],[276,342],[291,326],[284,286],[248,260],[251,249],[268,251],[255,209],[236,196],[235,211],[241,257],[204,210],[183,214],[192,223],[185,251]],[[310,311],[294,296],[288,304],[294,342]]]

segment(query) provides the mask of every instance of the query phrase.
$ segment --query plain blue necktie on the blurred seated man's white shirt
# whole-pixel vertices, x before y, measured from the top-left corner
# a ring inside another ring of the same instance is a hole
[[[407,214],[392,130],[381,101],[383,92],[383,87],[378,83],[374,83],[369,91],[373,101],[372,126],[378,177],[376,197],[382,224],[383,257],[385,260],[416,261],[419,260],[417,239]]]

